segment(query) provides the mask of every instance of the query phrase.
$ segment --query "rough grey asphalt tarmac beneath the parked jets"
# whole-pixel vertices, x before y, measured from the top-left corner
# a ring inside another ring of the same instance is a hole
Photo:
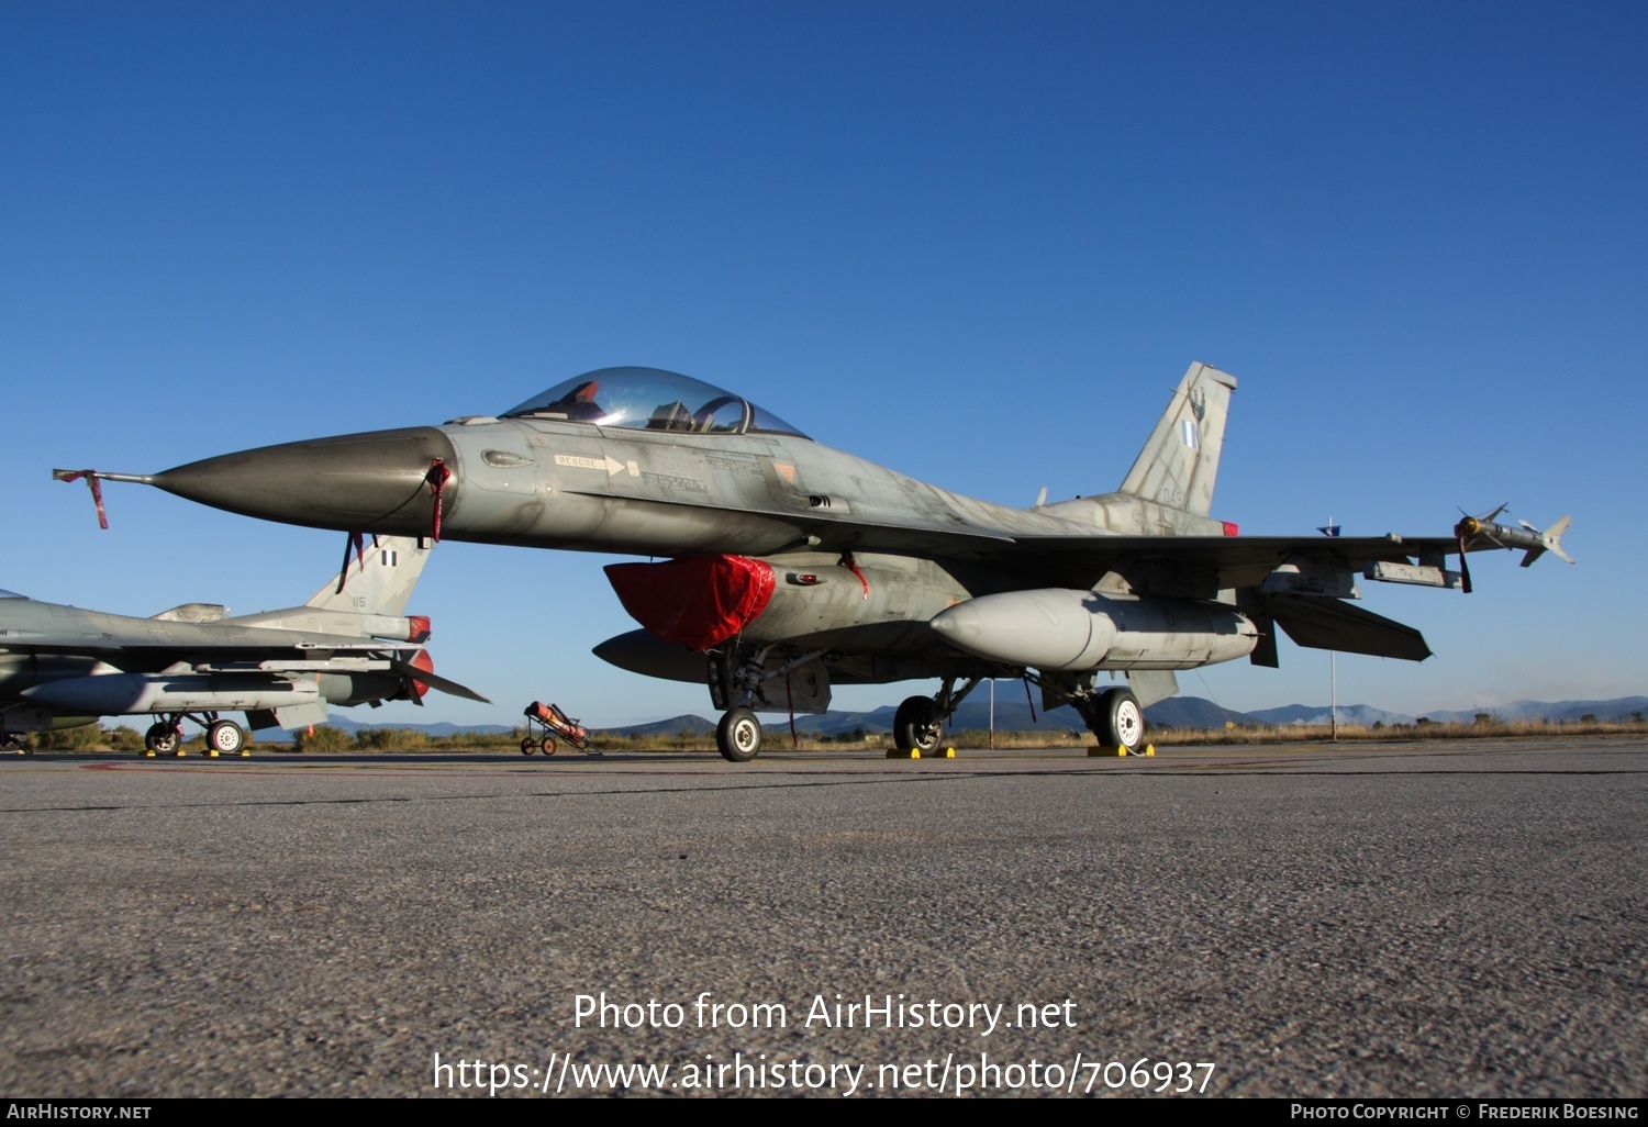
[[[0,788],[13,1097],[1648,1092],[1643,740]]]

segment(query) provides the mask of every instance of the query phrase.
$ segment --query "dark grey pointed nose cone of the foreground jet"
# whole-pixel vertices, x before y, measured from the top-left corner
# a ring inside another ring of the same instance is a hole
[[[445,511],[456,501],[458,481],[447,481],[437,460],[456,468],[452,440],[435,427],[409,427],[242,450],[157,473],[153,484],[264,521],[428,535],[433,479],[442,478]]]

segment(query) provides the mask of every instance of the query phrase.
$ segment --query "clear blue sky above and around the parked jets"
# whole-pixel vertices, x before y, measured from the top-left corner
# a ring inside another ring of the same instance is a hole
[[[0,5],[0,587],[302,601],[336,534],[109,486],[488,414],[610,364],[1030,504],[1114,488],[1190,361],[1241,379],[1215,516],[1445,534],[1571,512],[1577,567],[1365,583],[1422,713],[1648,692],[1638,3]],[[443,544],[437,669],[508,723],[710,715],[615,671],[605,557]],[[1325,704],[1328,659],[1182,674]],[[837,692],[895,702],[920,684]]]

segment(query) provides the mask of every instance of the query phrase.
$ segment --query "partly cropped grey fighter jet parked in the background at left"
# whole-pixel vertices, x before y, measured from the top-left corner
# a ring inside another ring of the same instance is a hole
[[[147,713],[148,755],[183,755],[183,720],[208,755],[247,755],[246,730],[323,723],[328,705],[422,704],[428,689],[485,700],[433,672],[428,620],[405,618],[428,547],[384,537],[303,606],[229,618],[185,603],[153,618],[40,603],[0,592],[0,743],[20,733]]]

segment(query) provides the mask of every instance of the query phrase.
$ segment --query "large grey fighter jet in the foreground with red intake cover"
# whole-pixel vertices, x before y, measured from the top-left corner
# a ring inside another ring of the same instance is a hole
[[[936,748],[984,679],[1025,677],[1043,707],[1074,705],[1099,745],[1137,751],[1173,671],[1276,666],[1277,628],[1302,646],[1427,657],[1419,631],[1346,601],[1356,575],[1468,590],[1467,552],[1562,555],[1566,519],[1422,539],[1238,535],[1211,516],[1234,387],[1192,364],[1117,491],[1043,493],[1028,509],[831,450],[742,395],[651,367],[587,372],[501,415],[92,483],[354,534],[664,557],[606,567],[643,629],[595,652],[705,682],[732,761],[760,751],[758,710],[821,712],[836,684],[934,677],[933,697],[895,713],[900,748]]]

